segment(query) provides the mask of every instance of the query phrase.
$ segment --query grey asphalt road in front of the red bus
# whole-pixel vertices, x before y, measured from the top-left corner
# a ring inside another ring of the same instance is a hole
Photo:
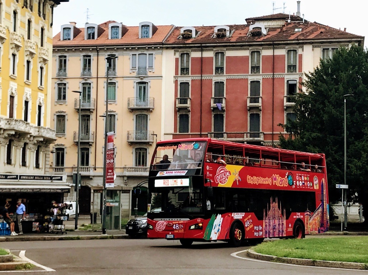
[[[194,243],[183,248],[178,241],[148,239],[65,240],[4,242],[10,250],[26,250],[25,256],[55,271],[29,274],[52,275],[215,275],[215,274],[368,274],[367,271],[302,267],[236,258],[230,254],[249,247],[227,243]],[[238,256],[243,257],[244,253]],[[25,275],[28,272],[12,272]]]

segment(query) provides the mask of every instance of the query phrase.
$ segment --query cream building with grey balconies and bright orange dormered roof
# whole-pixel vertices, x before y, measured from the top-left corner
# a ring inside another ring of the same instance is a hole
[[[130,216],[136,207],[133,187],[147,180],[149,162],[162,131],[162,43],[173,29],[141,22],[124,26],[74,22],[61,26],[53,39],[51,125],[52,173],[66,174],[72,183],[77,170],[78,108],[81,91],[81,190],[79,213],[100,213],[106,85],[109,130],[115,132],[115,187],[107,196],[121,202],[114,216]],[[117,59],[106,62],[109,54]],[[107,75],[107,76],[106,76]],[[144,185],[146,186],[146,185]],[[74,192],[65,198],[75,199]],[[133,200],[133,201],[132,201]],[[146,209],[142,192],[139,212]],[[132,210],[132,211],[130,211]],[[109,221],[108,221],[109,222]]]

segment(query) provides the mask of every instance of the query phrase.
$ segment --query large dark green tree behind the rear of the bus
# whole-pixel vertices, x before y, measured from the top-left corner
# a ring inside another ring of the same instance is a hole
[[[298,93],[297,119],[280,124],[285,149],[326,154],[330,201],[341,198],[335,184],[344,182],[344,95],[346,103],[348,200],[363,204],[368,222],[368,53],[360,46],[339,48],[332,59],[305,75],[305,93]],[[355,195],[357,194],[357,195]]]

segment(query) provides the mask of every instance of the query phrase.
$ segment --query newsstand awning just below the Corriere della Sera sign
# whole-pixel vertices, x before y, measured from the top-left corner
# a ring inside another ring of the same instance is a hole
[[[0,185],[0,193],[69,193],[67,185]]]

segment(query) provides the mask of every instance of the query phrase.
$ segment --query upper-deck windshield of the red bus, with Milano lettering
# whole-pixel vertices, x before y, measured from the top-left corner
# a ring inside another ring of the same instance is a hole
[[[201,167],[206,142],[158,144],[153,156],[153,170],[181,170]]]

